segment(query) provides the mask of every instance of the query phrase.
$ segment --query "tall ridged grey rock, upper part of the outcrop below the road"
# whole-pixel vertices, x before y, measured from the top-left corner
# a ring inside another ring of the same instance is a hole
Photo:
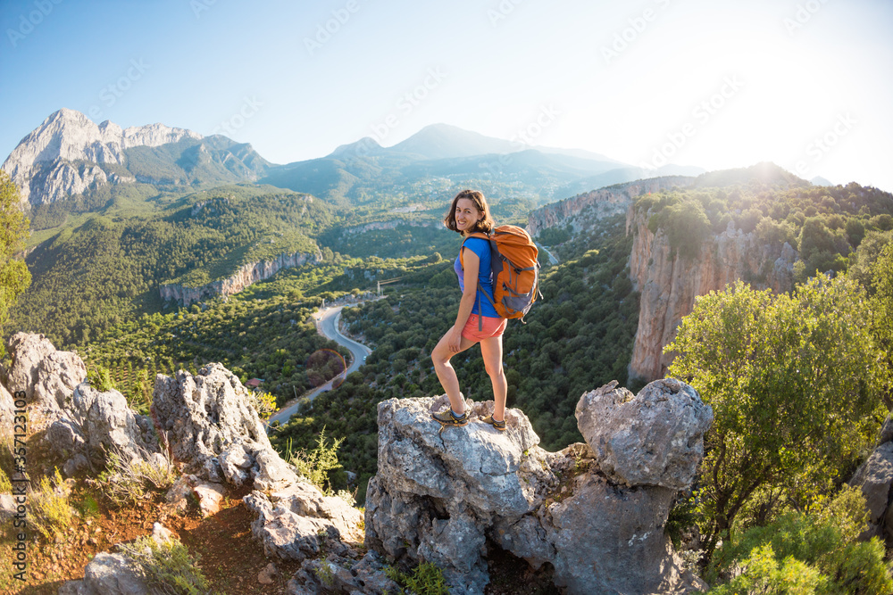
[[[271,450],[246,388],[219,363],[204,366],[196,376],[186,370],[174,377],[159,374],[152,408],[174,458],[209,481],[223,481],[217,457],[234,444],[256,442]]]

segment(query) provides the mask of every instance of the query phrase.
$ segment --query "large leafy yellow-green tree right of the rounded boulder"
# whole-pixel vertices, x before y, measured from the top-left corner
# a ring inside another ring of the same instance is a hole
[[[760,490],[804,506],[870,446],[885,411],[864,290],[823,275],[793,295],[737,282],[697,298],[670,375],[714,409],[701,466],[705,555]]]

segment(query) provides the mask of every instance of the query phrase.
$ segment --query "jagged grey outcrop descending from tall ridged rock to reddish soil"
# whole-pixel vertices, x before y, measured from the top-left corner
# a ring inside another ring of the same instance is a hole
[[[324,496],[302,481],[272,449],[247,397],[238,378],[215,363],[196,376],[185,370],[172,378],[158,375],[152,406],[159,431],[185,471],[213,483],[254,488],[243,501],[256,515],[252,533],[268,556],[303,560],[318,555],[326,542],[344,549],[342,540],[358,539],[363,516],[345,500]]]

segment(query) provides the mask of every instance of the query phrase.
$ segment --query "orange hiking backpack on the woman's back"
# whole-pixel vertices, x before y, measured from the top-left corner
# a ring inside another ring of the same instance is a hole
[[[539,262],[537,244],[521,227],[501,225],[489,235],[480,232],[465,236],[480,237],[490,243],[490,269],[493,271],[493,308],[503,318],[521,318],[537,301],[539,293]],[[465,244],[463,240],[463,246]],[[459,250],[462,262],[462,250]],[[464,263],[463,263],[464,267]],[[478,283],[480,289],[480,282]],[[487,295],[487,292],[482,292]],[[487,295],[489,300],[489,295]]]

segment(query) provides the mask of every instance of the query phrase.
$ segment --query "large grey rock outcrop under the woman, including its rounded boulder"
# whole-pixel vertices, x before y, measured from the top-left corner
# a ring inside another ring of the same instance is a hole
[[[468,401],[472,422],[440,433],[430,412],[446,404],[445,396],[379,404],[379,468],[366,495],[371,550],[396,563],[432,561],[457,593],[483,592],[482,555],[496,546],[534,567],[551,564],[568,593],[665,592],[682,583],[663,525],[676,488],[693,481],[697,442],[713,419],[691,387],[658,381],[634,398],[615,385],[583,395],[580,431],[598,442],[557,453],[538,447],[516,409],[506,411],[505,433],[481,423],[491,402]],[[683,419],[665,417],[672,412]],[[611,423],[594,433],[600,413]],[[647,471],[634,460],[664,449]],[[686,464],[671,472],[665,466],[675,461]],[[621,481],[618,469],[631,472]]]

